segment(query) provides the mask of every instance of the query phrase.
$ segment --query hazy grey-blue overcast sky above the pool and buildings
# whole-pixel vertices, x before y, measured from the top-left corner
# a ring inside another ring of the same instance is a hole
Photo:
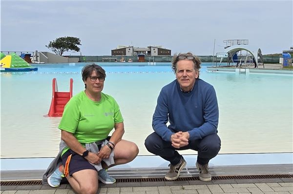
[[[224,39],[249,39],[263,54],[293,46],[292,0],[1,0],[1,51],[49,51],[62,36],[81,39],[83,55],[118,45],[162,45],[211,55]],[[79,53],[67,53],[79,55]]]

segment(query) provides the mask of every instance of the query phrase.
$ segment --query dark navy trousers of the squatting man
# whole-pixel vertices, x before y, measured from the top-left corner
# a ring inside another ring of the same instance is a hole
[[[156,156],[169,161],[172,165],[180,162],[182,156],[176,150],[192,149],[198,152],[197,162],[201,165],[209,163],[209,160],[217,156],[221,149],[221,140],[217,134],[211,134],[201,140],[189,141],[187,146],[174,148],[170,141],[164,141],[157,133],[147,136],[146,149]]]

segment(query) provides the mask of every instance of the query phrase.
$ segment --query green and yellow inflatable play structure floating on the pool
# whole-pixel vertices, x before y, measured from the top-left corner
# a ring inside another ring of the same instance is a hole
[[[15,71],[38,71],[38,68],[32,67],[24,59],[16,53],[0,54],[0,71],[15,72]]]

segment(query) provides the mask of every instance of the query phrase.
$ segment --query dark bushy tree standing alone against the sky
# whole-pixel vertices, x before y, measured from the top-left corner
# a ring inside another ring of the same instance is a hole
[[[79,52],[80,48],[77,45],[82,45],[81,40],[79,38],[65,36],[56,38],[56,40],[50,41],[49,44],[45,46],[54,53],[62,56],[64,52]]]

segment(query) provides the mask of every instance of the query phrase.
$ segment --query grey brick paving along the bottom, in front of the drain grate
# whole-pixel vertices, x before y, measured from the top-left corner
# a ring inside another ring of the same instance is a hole
[[[267,179],[270,181],[270,179]],[[272,181],[272,180],[271,180]],[[1,191],[1,194],[75,194],[69,185],[58,189]],[[103,187],[98,194],[293,194],[293,182],[202,184],[146,187]]]

